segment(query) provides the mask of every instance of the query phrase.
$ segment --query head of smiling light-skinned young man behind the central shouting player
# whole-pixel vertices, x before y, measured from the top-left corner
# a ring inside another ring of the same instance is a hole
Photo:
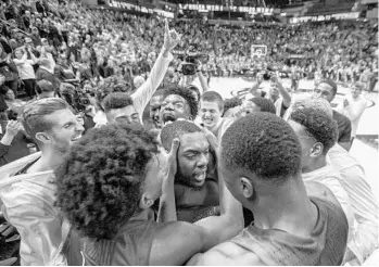
[[[204,126],[209,129],[217,126],[224,113],[224,101],[222,96],[215,91],[207,91],[201,96],[200,116]]]

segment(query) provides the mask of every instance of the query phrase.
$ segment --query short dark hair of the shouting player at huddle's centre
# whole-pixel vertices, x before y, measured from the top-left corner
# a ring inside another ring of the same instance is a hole
[[[169,152],[172,149],[173,140],[185,134],[201,131],[200,127],[195,124],[187,120],[176,120],[172,124],[164,126],[161,130],[161,143],[163,148]]]

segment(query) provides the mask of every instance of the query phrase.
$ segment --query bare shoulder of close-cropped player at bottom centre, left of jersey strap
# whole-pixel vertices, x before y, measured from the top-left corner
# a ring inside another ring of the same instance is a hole
[[[197,265],[263,265],[260,257],[231,242],[224,242],[199,257]]]

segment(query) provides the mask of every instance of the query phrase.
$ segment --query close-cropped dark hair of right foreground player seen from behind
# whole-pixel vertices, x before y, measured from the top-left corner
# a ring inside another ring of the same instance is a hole
[[[256,112],[236,120],[222,138],[225,168],[244,169],[280,185],[301,171],[301,145],[280,117]]]

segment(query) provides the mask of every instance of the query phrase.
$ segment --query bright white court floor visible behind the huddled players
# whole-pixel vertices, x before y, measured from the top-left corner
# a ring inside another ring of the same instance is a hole
[[[283,86],[290,87],[290,80],[283,79]],[[211,79],[211,90],[217,91],[225,99],[232,98],[237,91],[251,87],[252,82],[242,78],[218,78]],[[301,80],[299,84],[299,93],[293,96],[296,98],[306,98],[314,89],[313,80]],[[368,107],[361,118],[357,129],[356,138],[351,149],[351,154],[362,164],[366,171],[366,179],[372,188],[372,191],[379,199],[379,164],[378,164],[378,134],[379,134],[379,104],[378,90],[376,92],[363,92],[363,96],[368,100]],[[333,101],[336,104],[343,100],[344,96],[349,93],[349,89],[340,86],[338,96]]]

